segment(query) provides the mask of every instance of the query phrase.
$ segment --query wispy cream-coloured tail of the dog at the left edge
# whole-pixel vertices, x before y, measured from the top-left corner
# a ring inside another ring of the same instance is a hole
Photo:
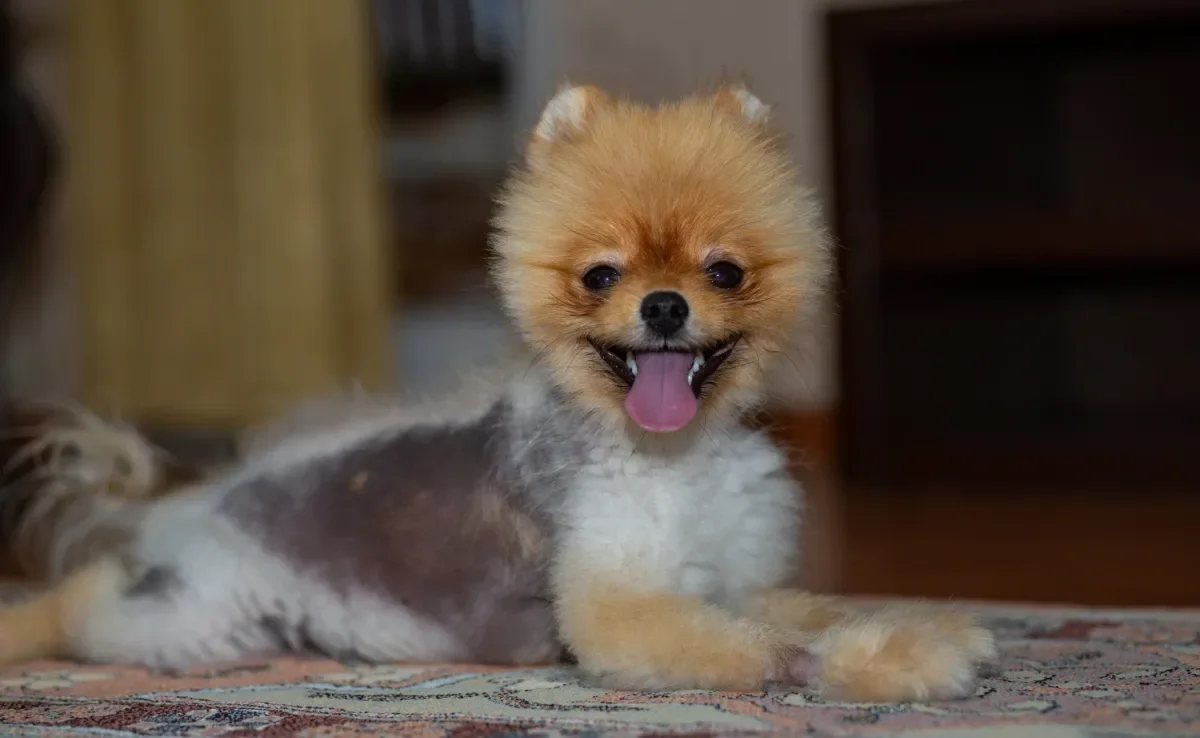
[[[148,500],[204,476],[77,407],[10,403],[0,415],[0,548],[11,568],[43,582],[119,552]]]

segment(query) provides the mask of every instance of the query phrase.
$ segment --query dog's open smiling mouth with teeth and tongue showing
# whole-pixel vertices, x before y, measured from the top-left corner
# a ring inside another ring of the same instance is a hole
[[[697,398],[740,336],[695,348],[647,350],[592,341],[612,373],[629,386],[625,410],[647,431],[678,431],[696,415]]]

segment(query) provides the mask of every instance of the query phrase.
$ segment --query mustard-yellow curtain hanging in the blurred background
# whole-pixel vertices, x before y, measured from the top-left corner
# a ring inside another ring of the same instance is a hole
[[[71,0],[82,391],[230,427],[388,384],[370,12],[358,0]]]

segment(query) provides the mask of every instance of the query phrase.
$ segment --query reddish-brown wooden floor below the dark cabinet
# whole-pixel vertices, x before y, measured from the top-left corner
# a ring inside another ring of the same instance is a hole
[[[836,588],[1087,605],[1200,605],[1196,491],[839,494]]]

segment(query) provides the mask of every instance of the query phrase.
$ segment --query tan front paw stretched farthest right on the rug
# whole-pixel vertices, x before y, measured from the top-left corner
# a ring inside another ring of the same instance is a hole
[[[971,616],[910,608],[854,618],[812,650],[832,696],[905,702],[970,695],[979,666],[996,658],[996,642]]]

